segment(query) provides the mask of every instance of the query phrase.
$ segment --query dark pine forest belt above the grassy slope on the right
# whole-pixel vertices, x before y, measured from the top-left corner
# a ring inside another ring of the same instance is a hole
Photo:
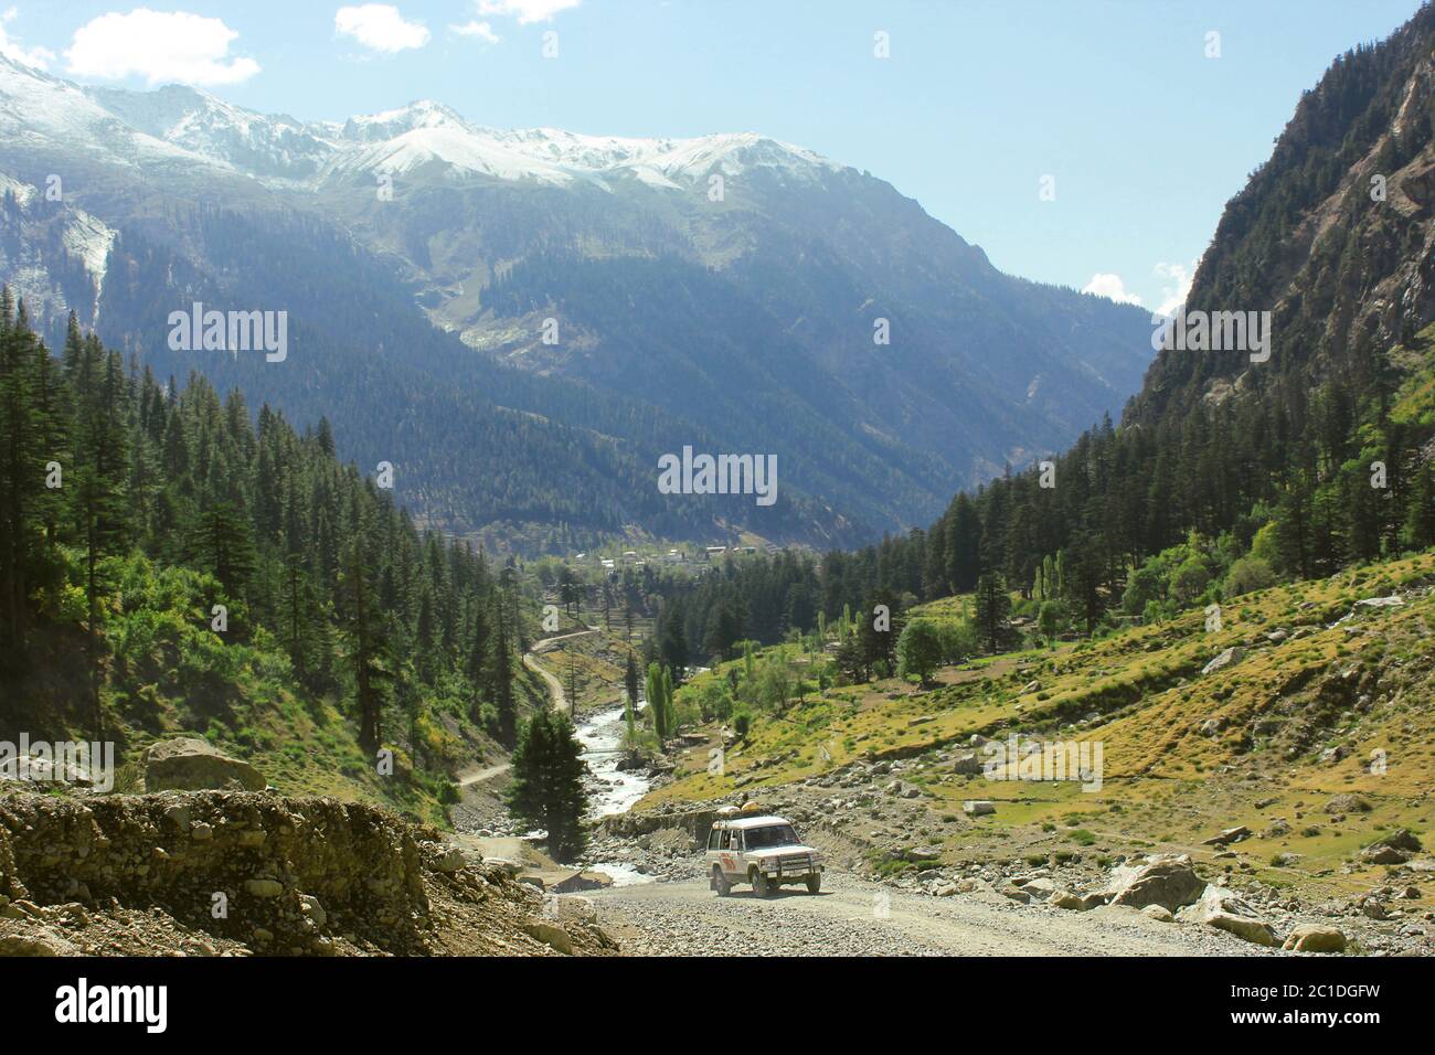
[[[1426,330],[1392,357],[1432,344]],[[773,643],[844,609],[980,586],[1020,594],[1017,610],[1029,601],[1033,616],[1050,604],[1058,632],[1093,633],[1424,550],[1435,545],[1435,469],[1422,455],[1435,422],[1421,379],[1403,393],[1396,380],[1290,382],[1154,428],[1102,422],[1052,461],[1053,487],[1032,466],[957,495],[926,531],[821,558],[732,561],[674,590],[663,624],[680,623],[695,656],[730,657],[743,639]]]

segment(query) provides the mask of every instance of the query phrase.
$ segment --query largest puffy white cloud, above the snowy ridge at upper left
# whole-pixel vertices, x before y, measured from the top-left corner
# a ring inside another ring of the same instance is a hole
[[[65,57],[69,72],[82,78],[142,76],[151,85],[235,85],[260,72],[254,59],[230,57],[230,44],[238,36],[220,19],[136,7],[129,14],[110,11],[80,26]]]

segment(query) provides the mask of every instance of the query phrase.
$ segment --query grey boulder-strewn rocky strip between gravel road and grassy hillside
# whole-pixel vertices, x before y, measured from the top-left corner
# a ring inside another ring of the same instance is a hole
[[[928,843],[940,822],[900,774],[901,764],[857,764],[847,772],[765,789],[762,807],[792,820],[804,840],[824,851],[829,874],[848,873],[916,899],[999,897],[1058,916],[1114,904],[1197,936],[1218,930],[1258,947],[1435,955],[1435,913],[1412,904],[1421,894],[1416,880],[1435,868],[1411,833],[1393,833],[1366,851],[1372,860],[1391,863],[1389,883],[1332,900],[1307,900],[1227,871],[1220,854],[1211,863],[1144,853],[1118,854],[1108,863],[1081,853],[1052,854],[1040,863],[997,857],[944,863]],[[715,811],[745,798],[738,792],[687,810],[663,807],[607,818],[590,854],[621,861],[656,881],[703,880],[702,840]],[[1221,837],[1230,843],[1240,834],[1221,833],[1217,841]],[[897,867],[881,871],[874,860]]]

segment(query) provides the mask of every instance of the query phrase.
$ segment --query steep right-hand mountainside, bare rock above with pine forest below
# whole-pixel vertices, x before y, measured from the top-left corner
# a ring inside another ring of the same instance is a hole
[[[1231,558],[1263,533],[1261,577],[1435,545],[1432,52],[1425,6],[1302,99],[1184,306],[1184,332],[1221,350],[1164,349],[1121,428],[1053,459],[1056,487],[1027,471],[959,495],[888,567],[923,568],[914,591],[938,597],[993,573],[1032,590],[1063,564],[1058,600],[1091,630],[1164,600],[1128,586],[1192,531]]]

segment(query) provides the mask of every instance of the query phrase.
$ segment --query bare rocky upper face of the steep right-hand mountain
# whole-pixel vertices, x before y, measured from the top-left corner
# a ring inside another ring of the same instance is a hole
[[[1370,382],[1435,319],[1435,9],[1340,56],[1225,208],[1187,311],[1271,311],[1271,359],[1165,350],[1131,421],[1225,386]]]

